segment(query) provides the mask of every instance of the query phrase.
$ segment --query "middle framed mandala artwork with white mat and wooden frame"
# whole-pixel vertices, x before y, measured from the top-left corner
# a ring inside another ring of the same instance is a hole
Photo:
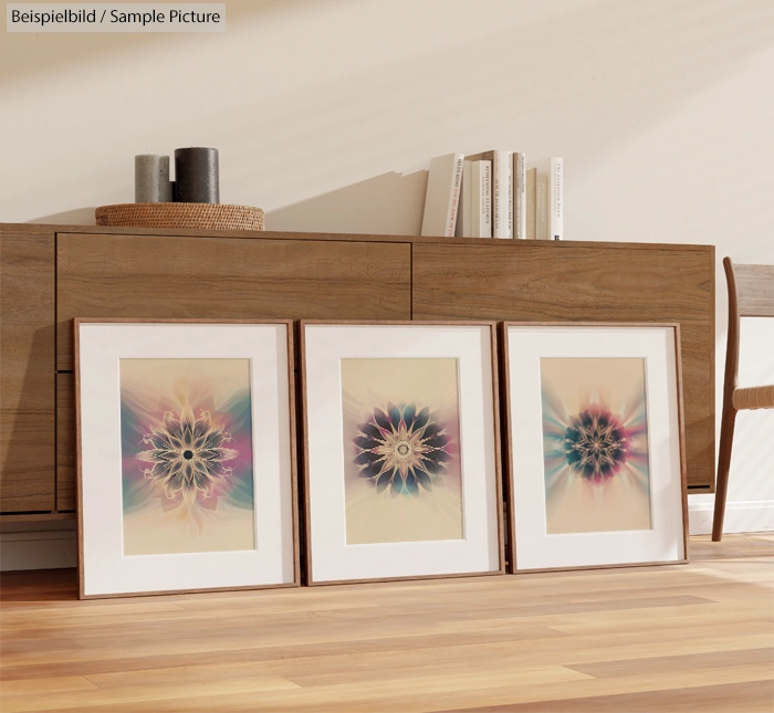
[[[308,584],[501,573],[493,323],[301,323]]]

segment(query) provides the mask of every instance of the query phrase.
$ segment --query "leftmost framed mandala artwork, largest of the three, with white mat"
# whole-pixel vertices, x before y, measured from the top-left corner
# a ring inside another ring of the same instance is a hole
[[[81,597],[297,586],[292,323],[74,326]]]

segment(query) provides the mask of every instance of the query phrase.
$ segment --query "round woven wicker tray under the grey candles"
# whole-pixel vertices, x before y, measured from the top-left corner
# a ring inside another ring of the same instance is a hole
[[[263,210],[221,203],[118,203],[100,206],[97,226],[263,230]]]

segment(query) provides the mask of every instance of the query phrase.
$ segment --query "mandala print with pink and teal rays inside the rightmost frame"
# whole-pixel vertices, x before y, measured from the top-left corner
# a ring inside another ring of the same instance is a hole
[[[548,534],[649,529],[642,359],[541,359]]]

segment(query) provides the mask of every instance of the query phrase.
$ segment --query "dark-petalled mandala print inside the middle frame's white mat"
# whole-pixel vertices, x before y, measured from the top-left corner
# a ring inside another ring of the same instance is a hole
[[[346,542],[460,539],[457,359],[342,359]]]

